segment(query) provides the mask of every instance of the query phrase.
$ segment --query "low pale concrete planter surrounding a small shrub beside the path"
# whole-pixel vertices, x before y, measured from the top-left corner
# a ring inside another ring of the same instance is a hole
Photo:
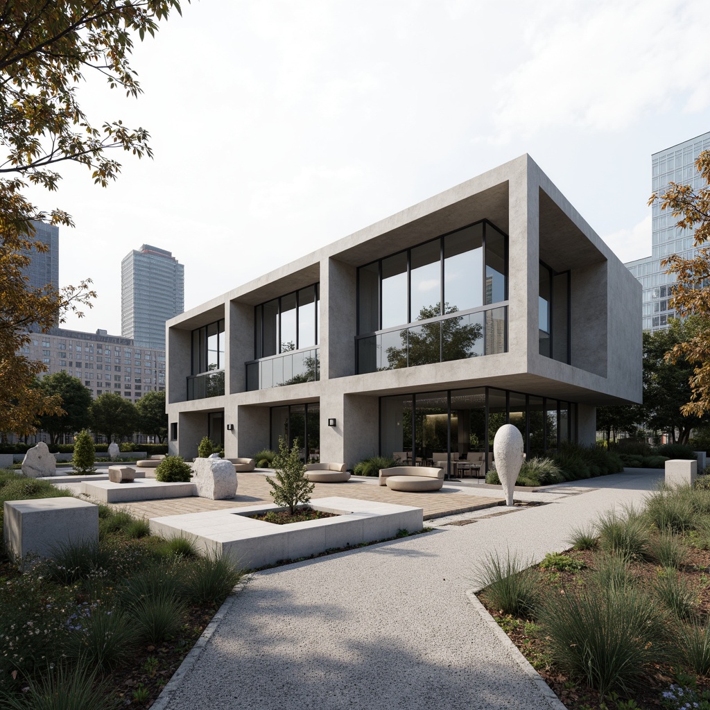
[[[424,526],[422,508],[373,503],[354,498],[319,498],[315,510],[338,513],[335,518],[275,525],[249,515],[283,510],[278,506],[246,506],[204,513],[151,518],[151,532],[163,537],[185,535],[202,552],[228,555],[239,567],[255,569],[284,559],[310,557],[332,548],[394,537],[399,530]]]

